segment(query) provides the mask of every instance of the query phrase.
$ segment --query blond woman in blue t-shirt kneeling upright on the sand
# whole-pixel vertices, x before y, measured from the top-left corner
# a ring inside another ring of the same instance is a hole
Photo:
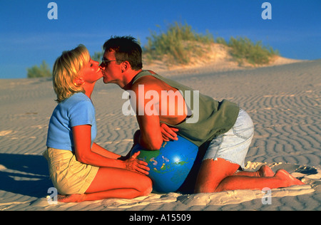
[[[151,179],[145,176],[149,168],[136,159],[139,152],[124,160],[93,142],[96,118],[91,93],[102,76],[99,63],[83,45],[64,51],[54,64],[58,105],[49,122],[44,157],[59,202],[131,199],[151,193]]]

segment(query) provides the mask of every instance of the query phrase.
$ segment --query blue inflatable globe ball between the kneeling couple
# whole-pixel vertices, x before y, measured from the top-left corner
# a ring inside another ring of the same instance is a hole
[[[185,182],[198,155],[198,146],[178,136],[178,140],[163,142],[160,150],[151,151],[135,145],[131,155],[140,151],[138,159],[148,163],[148,177],[153,181],[153,192],[176,192]]]

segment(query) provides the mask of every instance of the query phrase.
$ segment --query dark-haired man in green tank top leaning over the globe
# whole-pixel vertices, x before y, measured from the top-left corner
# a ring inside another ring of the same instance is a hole
[[[116,83],[131,95],[140,131],[134,142],[159,150],[175,132],[199,147],[208,146],[198,172],[196,193],[263,189],[303,184],[285,170],[267,166],[238,172],[253,138],[253,122],[238,105],[218,102],[191,88],[142,70],[142,49],[131,36],[114,37],[103,45],[104,83]],[[194,95],[195,94],[195,95]]]

